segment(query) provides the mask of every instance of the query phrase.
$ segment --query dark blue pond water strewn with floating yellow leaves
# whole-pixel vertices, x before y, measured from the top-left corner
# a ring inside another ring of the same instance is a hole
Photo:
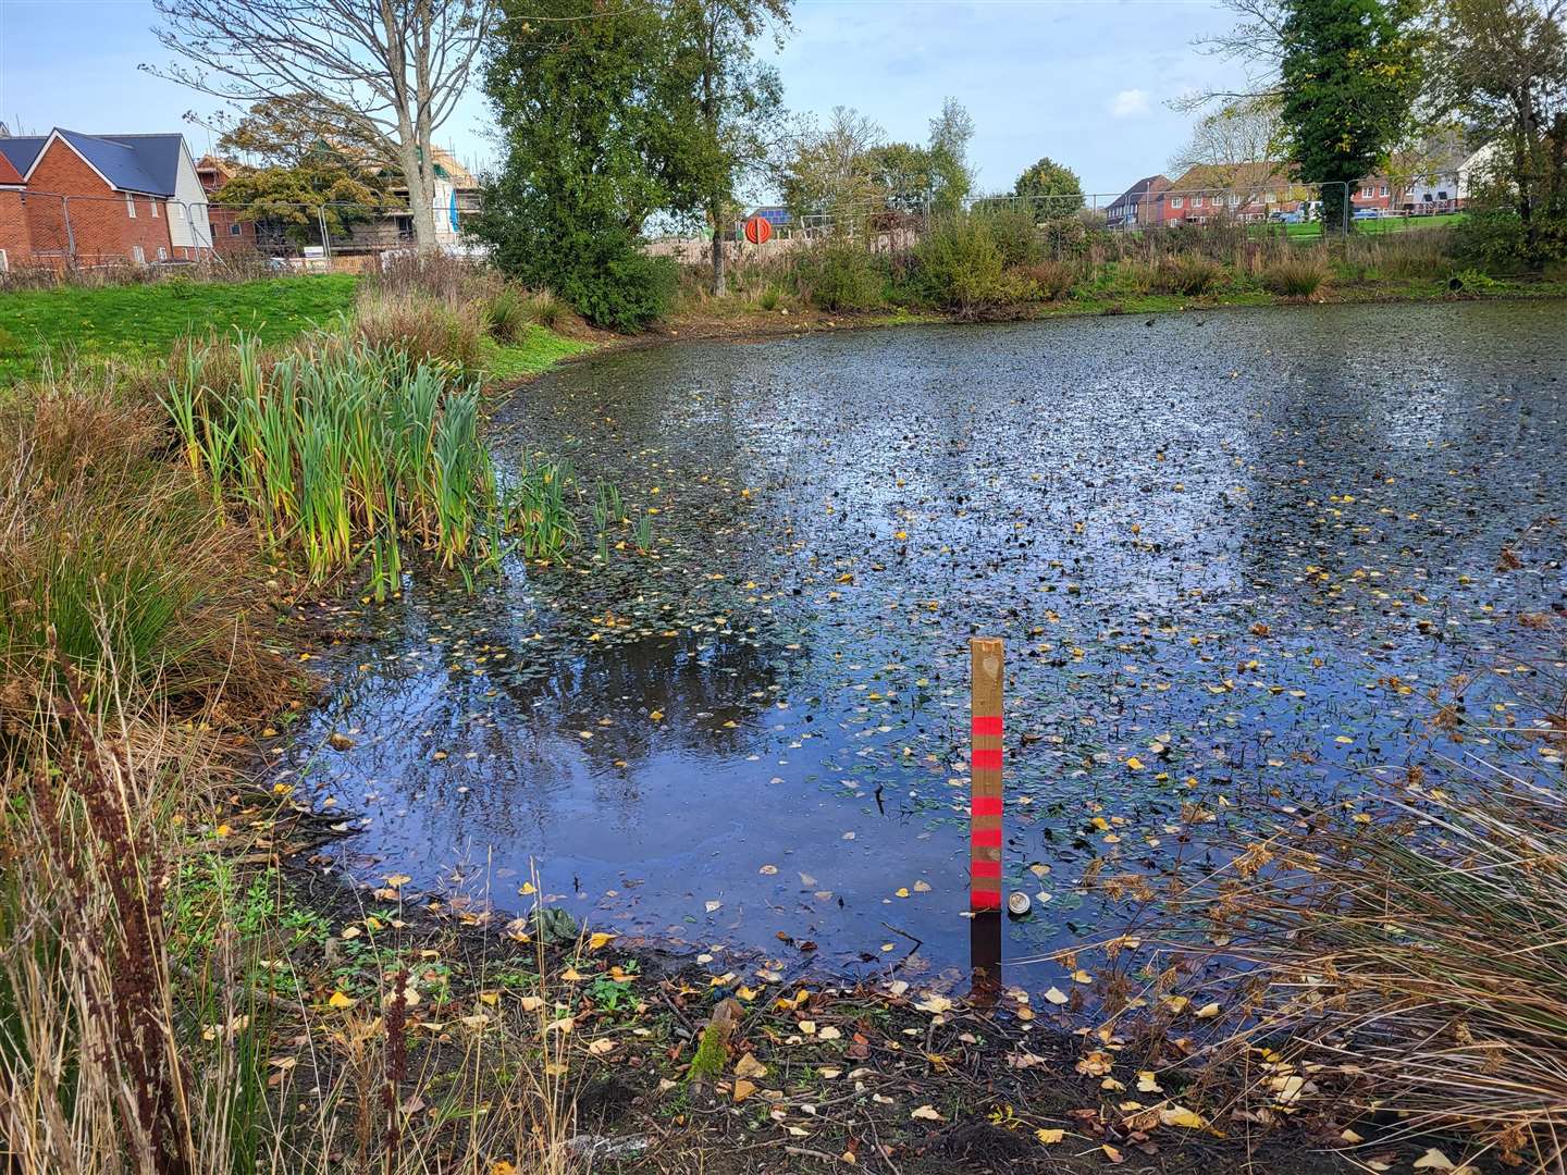
[[[1203,852],[1182,805],[1352,804],[1423,689],[1567,605],[1564,327],[1321,307],[570,365],[497,454],[613,481],[657,558],[324,609],[332,692],[277,776],[351,813],[367,880],[519,912],[536,868],[599,927],[934,973],[968,957],[967,645],[1000,636],[1006,887],[1034,896],[1006,953],[1091,938],[1135,898],[1084,871]]]

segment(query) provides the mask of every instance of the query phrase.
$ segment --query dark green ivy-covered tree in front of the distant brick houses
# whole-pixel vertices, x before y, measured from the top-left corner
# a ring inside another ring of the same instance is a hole
[[[1418,0],[1288,0],[1280,30],[1280,121],[1323,224],[1346,222],[1349,185],[1409,130],[1420,91]]]

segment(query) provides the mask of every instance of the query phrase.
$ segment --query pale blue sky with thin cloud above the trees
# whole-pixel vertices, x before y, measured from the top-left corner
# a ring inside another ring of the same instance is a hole
[[[1216,81],[1222,63],[1192,38],[1224,28],[1210,0],[798,0],[776,55],[791,110],[854,107],[892,138],[923,139],[942,99],[975,118],[972,158],[995,191],[1040,155],[1087,191],[1120,191],[1164,171],[1188,116],[1164,103]],[[0,119],[13,130],[183,130],[215,102],[141,72],[165,60],[147,0],[0,0]],[[771,45],[768,56],[774,56]],[[484,105],[470,96],[442,132],[484,163]]]

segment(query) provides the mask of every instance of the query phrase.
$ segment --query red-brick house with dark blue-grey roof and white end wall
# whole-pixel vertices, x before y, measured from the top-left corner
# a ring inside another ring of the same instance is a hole
[[[0,158],[24,185],[16,204],[0,202],[0,237],[25,226],[28,238],[28,255],[11,265],[150,265],[212,251],[205,194],[182,135],[56,127],[0,138]]]

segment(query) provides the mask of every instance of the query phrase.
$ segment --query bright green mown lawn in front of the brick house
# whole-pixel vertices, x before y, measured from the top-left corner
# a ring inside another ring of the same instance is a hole
[[[188,334],[241,327],[266,343],[326,326],[354,304],[351,274],[260,282],[157,282],[0,293],[0,384],[36,376],[44,352],[166,356]]]

